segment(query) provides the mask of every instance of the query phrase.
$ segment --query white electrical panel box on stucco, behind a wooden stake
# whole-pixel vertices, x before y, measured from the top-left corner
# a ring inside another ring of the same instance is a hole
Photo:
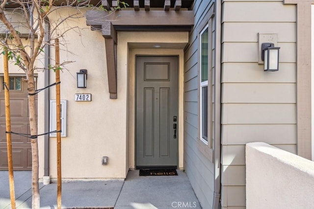
[[[61,100],[61,137],[67,136],[67,100]],[[56,103],[50,100],[50,131],[57,131]],[[57,133],[51,133],[50,137],[56,137]]]

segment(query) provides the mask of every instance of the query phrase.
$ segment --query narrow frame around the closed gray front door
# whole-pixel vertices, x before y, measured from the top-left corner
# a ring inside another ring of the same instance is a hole
[[[137,66],[136,66],[136,60],[137,60],[137,57],[176,57],[177,58],[177,116],[178,118],[180,119],[180,114],[179,114],[179,103],[180,103],[180,100],[179,100],[179,76],[180,76],[180,56],[179,55],[169,55],[169,54],[158,54],[158,55],[155,55],[155,54],[150,54],[150,55],[147,55],[147,54],[135,54],[134,56],[134,60],[135,60],[135,69],[134,69],[134,78],[135,78],[135,82],[134,82],[134,102],[135,102],[135,106],[134,106],[134,162],[135,162],[135,167],[137,167],[137,163],[136,163],[136,87],[137,87],[137,80],[136,80],[136,73],[137,73]],[[179,124],[179,120],[177,122],[177,124]],[[177,168],[179,168],[179,139],[180,139],[180,125],[177,125],[177,153],[178,153],[178,156],[177,156]]]

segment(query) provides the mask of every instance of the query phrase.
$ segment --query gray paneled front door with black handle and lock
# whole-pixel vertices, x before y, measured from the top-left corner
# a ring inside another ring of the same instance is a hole
[[[178,57],[137,56],[136,167],[177,164]]]

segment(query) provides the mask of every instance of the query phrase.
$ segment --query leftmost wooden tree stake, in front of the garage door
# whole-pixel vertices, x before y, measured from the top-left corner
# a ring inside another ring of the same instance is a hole
[[[8,68],[8,51],[4,48],[4,83],[7,88],[9,88],[9,68]],[[11,113],[10,113],[10,96],[9,90],[4,87],[4,97],[5,97],[5,122],[6,131],[11,132]],[[8,151],[8,168],[9,168],[9,184],[10,184],[10,197],[11,197],[11,208],[15,209],[15,192],[14,192],[14,177],[13,177],[13,160],[12,160],[12,139],[11,134],[6,134],[6,143]]]

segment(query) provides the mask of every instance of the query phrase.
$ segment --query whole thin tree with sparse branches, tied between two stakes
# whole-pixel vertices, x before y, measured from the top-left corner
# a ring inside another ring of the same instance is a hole
[[[118,5],[127,6],[125,2],[119,0],[118,2]],[[43,53],[44,47],[50,44],[50,40],[62,39],[67,31],[77,28],[66,27],[67,20],[84,17],[82,8],[92,7],[93,9],[96,7],[90,4],[90,0],[0,0],[0,3],[0,21],[2,22],[0,47],[7,48],[9,59],[26,73],[32,151],[32,208],[38,209],[40,195],[34,78],[36,67],[34,64],[40,53]],[[65,17],[60,16],[57,21],[51,23],[49,17],[55,14],[56,10],[64,7],[75,8],[76,12]],[[113,8],[113,11],[119,8],[120,6]],[[98,9],[104,8],[100,5]],[[16,15],[20,15],[24,21],[19,24],[12,23],[11,18]],[[51,25],[49,31],[45,30],[45,22],[49,22]],[[19,31],[21,28],[23,32]],[[48,33],[50,34],[49,40],[45,40],[44,37]],[[27,42],[23,41],[24,38],[27,39]],[[57,67],[49,66],[44,70],[61,70],[62,66],[69,62],[71,61],[61,63]]]

